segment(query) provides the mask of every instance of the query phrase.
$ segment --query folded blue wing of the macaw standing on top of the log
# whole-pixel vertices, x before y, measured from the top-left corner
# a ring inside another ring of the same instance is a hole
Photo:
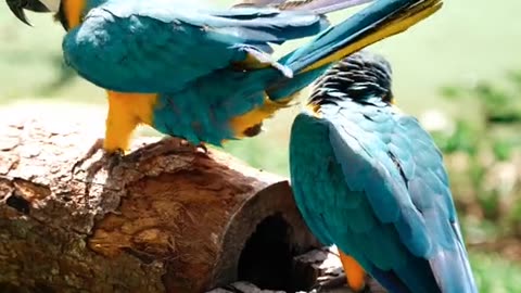
[[[275,64],[269,43],[328,26],[326,17],[305,11],[211,11],[185,0],[111,0],[65,36],[63,50],[79,75],[103,88],[173,92],[238,63],[241,69]]]

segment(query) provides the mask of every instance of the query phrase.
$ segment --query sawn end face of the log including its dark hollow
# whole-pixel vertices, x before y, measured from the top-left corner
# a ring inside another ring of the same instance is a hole
[[[230,221],[214,285],[242,280],[263,289],[304,290],[293,258],[318,246],[296,209],[288,181],[277,182],[245,202]]]

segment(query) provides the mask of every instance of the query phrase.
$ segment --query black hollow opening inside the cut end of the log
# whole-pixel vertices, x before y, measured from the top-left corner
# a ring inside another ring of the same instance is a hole
[[[257,225],[239,258],[239,280],[265,290],[293,290],[293,252],[290,226],[280,214]]]

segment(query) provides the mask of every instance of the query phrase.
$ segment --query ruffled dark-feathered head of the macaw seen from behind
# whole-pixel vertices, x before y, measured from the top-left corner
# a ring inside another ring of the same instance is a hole
[[[391,64],[381,55],[358,51],[331,66],[315,84],[310,104],[342,98],[364,101],[380,97],[393,103]]]

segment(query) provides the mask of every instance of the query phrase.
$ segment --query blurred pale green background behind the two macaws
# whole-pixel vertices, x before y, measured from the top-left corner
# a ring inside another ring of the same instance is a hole
[[[370,48],[393,65],[398,105],[420,118],[445,153],[481,292],[521,292],[519,11],[517,0],[446,1],[433,17]],[[332,20],[345,16],[338,13]],[[0,106],[39,102],[104,111],[103,90],[62,63],[61,26],[50,15],[29,17],[34,27],[0,10]],[[277,53],[304,41],[287,43]],[[298,111],[279,113],[264,133],[225,150],[288,175],[289,130]],[[139,135],[155,133],[144,129]]]

